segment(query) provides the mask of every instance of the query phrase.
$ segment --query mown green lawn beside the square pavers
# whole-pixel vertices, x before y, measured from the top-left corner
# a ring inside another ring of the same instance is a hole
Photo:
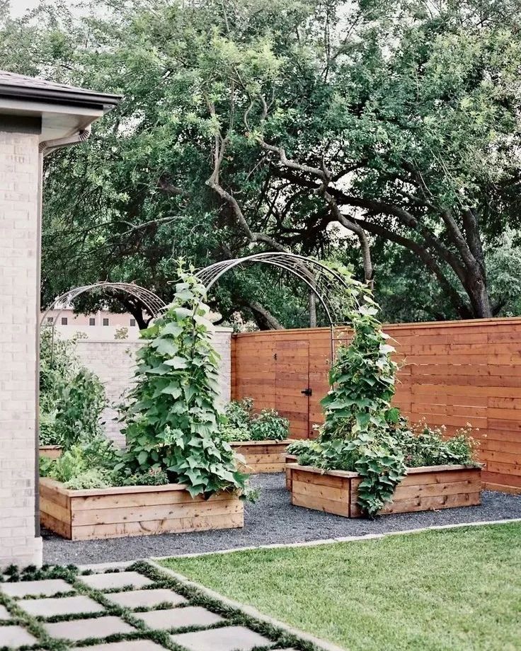
[[[349,651],[521,648],[521,523],[162,563]]]

